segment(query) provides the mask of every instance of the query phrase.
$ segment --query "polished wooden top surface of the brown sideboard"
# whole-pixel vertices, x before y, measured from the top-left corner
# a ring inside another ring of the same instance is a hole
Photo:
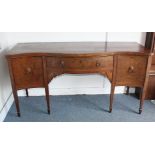
[[[147,51],[148,49],[134,42],[39,42],[16,44],[7,55],[23,53],[92,54]]]

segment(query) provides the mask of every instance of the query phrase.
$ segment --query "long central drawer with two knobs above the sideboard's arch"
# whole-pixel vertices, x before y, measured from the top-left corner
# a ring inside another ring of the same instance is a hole
[[[112,68],[113,56],[104,57],[48,57],[47,68],[61,69],[97,69],[97,68]]]

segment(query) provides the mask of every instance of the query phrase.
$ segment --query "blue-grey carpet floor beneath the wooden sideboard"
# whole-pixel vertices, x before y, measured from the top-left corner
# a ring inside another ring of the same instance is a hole
[[[113,112],[108,113],[109,95],[51,96],[51,115],[44,97],[20,97],[21,117],[13,104],[5,122],[154,122],[155,104],[145,101],[139,115],[139,100],[115,95]]]

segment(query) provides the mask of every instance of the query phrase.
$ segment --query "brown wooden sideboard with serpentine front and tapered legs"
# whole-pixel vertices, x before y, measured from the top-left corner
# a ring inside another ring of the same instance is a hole
[[[141,88],[139,114],[142,112],[150,50],[129,42],[19,43],[6,55],[13,95],[20,116],[17,91],[45,88],[50,114],[49,82],[58,75],[101,74],[111,82],[109,112],[112,112],[115,86]]]

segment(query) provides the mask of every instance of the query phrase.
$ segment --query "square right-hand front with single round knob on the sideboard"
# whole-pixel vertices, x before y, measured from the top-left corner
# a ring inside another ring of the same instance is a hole
[[[147,56],[118,56],[116,84],[122,86],[143,86],[147,61]]]

